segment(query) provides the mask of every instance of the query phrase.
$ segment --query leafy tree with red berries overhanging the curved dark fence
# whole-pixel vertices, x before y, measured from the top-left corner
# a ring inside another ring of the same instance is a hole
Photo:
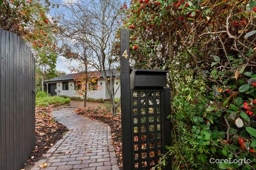
[[[0,29],[21,36],[31,46],[36,58],[36,66],[41,68],[41,90],[48,72],[54,71],[57,61],[56,22],[51,22],[46,13],[50,3],[42,1],[0,1]]]

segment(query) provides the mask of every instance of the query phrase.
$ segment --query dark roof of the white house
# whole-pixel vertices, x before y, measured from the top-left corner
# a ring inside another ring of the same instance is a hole
[[[117,71],[117,69],[106,70],[106,73],[107,73],[107,77],[110,77],[111,74],[114,76],[120,75],[119,72]],[[88,72],[88,74],[90,74],[90,77],[102,78],[102,74],[99,71],[90,71],[90,72]],[[60,77],[45,80],[44,83],[48,83],[48,82],[52,82],[52,81],[74,80],[74,79],[78,79],[78,78],[82,77],[83,75],[84,75],[84,73],[66,74],[66,75],[62,75]]]

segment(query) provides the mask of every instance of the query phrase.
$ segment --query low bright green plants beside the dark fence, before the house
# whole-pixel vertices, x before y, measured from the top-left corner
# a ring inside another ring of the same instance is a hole
[[[64,98],[60,96],[50,96],[47,93],[39,92],[36,94],[35,106],[48,106],[52,104],[68,104],[70,98]]]

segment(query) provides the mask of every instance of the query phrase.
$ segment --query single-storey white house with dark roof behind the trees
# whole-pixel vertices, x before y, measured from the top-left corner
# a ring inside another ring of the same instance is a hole
[[[120,84],[120,78],[119,73],[113,69],[113,70],[106,70],[107,77],[109,77],[110,73],[114,73],[114,76],[117,76],[117,79],[114,83],[114,91],[117,90],[119,84]],[[90,74],[91,73],[91,74]],[[89,72],[91,77],[98,77],[99,79],[96,80],[94,86],[96,85],[97,88],[90,88],[90,90],[87,91],[87,97],[90,98],[102,98],[102,99],[109,99],[109,93],[107,91],[106,82],[102,78],[102,75],[100,72],[94,71]],[[80,77],[80,73],[75,74],[67,74],[62,75],[60,77],[52,78],[49,80],[44,81],[45,89],[46,91],[52,95],[52,96],[68,96],[68,97],[81,97],[82,95],[78,95],[76,91],[76,83],[75,79],[78,79]],[[88,84],[88,87],[90,84]],[[117,91],[117,94],[115,97],[120,98],[121,92],[120,87]]]

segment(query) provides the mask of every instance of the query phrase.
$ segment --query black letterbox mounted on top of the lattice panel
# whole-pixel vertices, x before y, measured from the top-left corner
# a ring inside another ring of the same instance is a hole
[[[131,89],[145,88],[163,88],[166,87],[165,70],[141,70],[134,69],[130,71]]]

